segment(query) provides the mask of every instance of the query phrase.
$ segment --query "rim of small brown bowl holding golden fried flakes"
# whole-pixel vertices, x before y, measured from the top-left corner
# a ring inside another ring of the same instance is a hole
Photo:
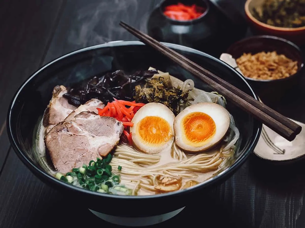
[[[272,81],[286,81],[286,80],[290,80],[291,78],[294,78],[296,77],[300,71],[303,71],[304,69],[304,62],[305,62],[305,57],[304,57],[304,54],[303,52],[301,51],[300,47],[298,47],[295,43],[289,41],[289,40],[286,40],[284,38],[281,38],[281,37],[278,37],[278,36],[270,36],[270,35],[257,35],[257,36],[250,36],[250,37],[247,37],[247,38],[244,38],[242,40],[239,40],[233,44],[231,44],[226,53],[230,54],[230,50],[232,47],[235,47],[236,45],[240,44],[240,43],[244,43],[244,42],[248,42],[248,41],[258,41],[258,40],[264,40],[264,39],[270,39],[270,40],[279,40],[283,43],[286,43],[288,44],[291,48],[294,48],[295,50],[297,50],[297,52],[300,54],[301,56],[301,59],[302,59],[302,62],[301,62],[301,66],[299,67],[299,69],[296,71],[295,74],[292,74],[290,75],[289,77],[287,78],[280,78],[280,79],[256,79],[256,78],[249,78],[249,77],[246,77],[243,75],[244,78],[246,78],[247,80],[250,80],[250,81],[260,81],[260,82],[272,82]]]

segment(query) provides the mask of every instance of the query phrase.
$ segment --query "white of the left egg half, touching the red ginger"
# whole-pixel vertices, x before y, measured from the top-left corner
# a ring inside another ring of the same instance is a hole
[[[143,142],[141,137],[138,135],[137,133],[138,123],[146,116],[159,116],[169,124],[170,138],[165,144],[160,146],[151,146]],[[144,105],[141,109],[138,110],[138,112],[136,112],[135,116],[131,120],[131,122],[134,123],[134,125],[130,127],[130,132],[132,133],[131,137],[133,141],[133,146],[136,149],[147,154],[159,153],[165,148],[171,146],[174,142],[174,127],[173,127],[174,119],[175,119],[174,113],[167,106],[161,103],[152,102]]]

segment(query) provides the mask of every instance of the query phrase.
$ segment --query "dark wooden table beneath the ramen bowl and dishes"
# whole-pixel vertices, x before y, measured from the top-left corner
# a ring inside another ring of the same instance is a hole
[[[95,217],[77,200],[38,180],[17,158],[5,118],[16,89],[34,71],[63,54],[111,40],[134,39],[118,26],[146,32],[160,0],[0,0],[0,227],[117,227]],[[238,8],[242,9],[240,5]],[[129,12],[129,13],[128,13]],[[304,75],[305,76],[305,75]],[[304,77],[305,78],[305,77]],[[305,86],[305,82],[302,84]],[[272,107],[305,122],[305,92]],[[287,102],[289,101],[289,102]],[[224,184],[153,227],[305,227],[303,162],[271,166],[251,155]],[[145,208],[144,208],[145,209]]]

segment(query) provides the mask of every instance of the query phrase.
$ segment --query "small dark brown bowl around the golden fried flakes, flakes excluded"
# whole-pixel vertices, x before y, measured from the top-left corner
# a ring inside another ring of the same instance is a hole
[[[277,54],[284,54],[287,58],[298,62],[298,71],[287,78],[263,80],[245,77],[264,103],[269,103],[269,100],[280,101],[279,99],[287,92],[297,90],[301,79],[305,76],[302,51],[296,44],[276,36],[252,36],[232,44],[227,53],[238,59],[243,53],[256,54],[262,51],[276,51]]]

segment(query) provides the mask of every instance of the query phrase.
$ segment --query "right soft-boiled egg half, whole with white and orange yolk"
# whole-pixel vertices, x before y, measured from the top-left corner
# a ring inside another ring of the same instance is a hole
[[[221,105],[191,105],[175,118],[175,143],[190,154],[203,152],[221,141],[229,125],[229,112]]]

